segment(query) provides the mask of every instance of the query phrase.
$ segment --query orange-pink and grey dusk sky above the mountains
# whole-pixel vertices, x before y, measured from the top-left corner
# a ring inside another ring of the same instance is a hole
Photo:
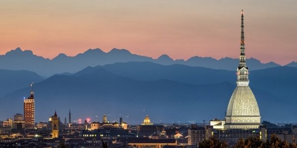
[[[1,0],[0,54],[21,47],[54,58],[124,48],[157,58],[297,61],[297,0]]]

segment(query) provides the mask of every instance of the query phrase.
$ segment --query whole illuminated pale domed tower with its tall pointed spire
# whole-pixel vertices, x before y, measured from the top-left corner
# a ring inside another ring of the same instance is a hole
[[[248,68],[245,53],[244,13],[242,10],[241,48],[237,68],[237,87],[235,88],[226,112],[224,128],[258,128],[260,111],[251,89],[248,86]]]

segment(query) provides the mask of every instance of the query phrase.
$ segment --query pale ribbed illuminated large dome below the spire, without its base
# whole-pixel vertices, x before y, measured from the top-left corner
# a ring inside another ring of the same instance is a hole
[[[249,86],[237,86],[228,104],[226,116],[260,116],[259,107]]]

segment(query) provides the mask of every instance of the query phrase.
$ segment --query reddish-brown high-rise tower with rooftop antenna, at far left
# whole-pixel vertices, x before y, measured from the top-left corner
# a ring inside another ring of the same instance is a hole
[[[33,83],[31,84],[30,96],[24,99],[24,121],[25,128],[33,128],[35,125],[35,100]]]

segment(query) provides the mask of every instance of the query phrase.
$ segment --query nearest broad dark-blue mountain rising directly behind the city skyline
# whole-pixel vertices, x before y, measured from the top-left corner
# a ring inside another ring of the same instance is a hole
[[[292,118],[297,110],[295,96],[283,98],[273,91],[292,87],[286,86],[286,83],[289,79],[295,81],[293,75],[297,68],[274,69],[277,68],[250,72],[251,89],[257,98],[262,119],[296,122]],[[286,73],[292,75],[284,75]],[[278,82],[273,81],[275,78],[283,83],[273,84]],[[69,108],[73,119],[94,119],[96,115],[106,113],[110,114],[108,118],[111,121],[120,116],[129,116],[124,120],[133,124],[140,123],[147,114],[155,123],[177,120],[202,122],[214,117],[224,118],[235,88],[234,79],[235,72],[231,71],[185,65],[163,66],[149,62],[87,67],[75,74],[57,74],[36,83],[36,118],[47,120],[55,109],[64,117]],[[213,83],[206,84],[208,80]],[[296,90],[296,86],[293,87]],[[20,89],[1,98],[0,111],[3,113],[0,119],[22,111],[22,98],[29,94],[29,89]],[[288,92],[294,95],[291,91],[283,93]],[[7,110],[9,108],[17,110]]]

